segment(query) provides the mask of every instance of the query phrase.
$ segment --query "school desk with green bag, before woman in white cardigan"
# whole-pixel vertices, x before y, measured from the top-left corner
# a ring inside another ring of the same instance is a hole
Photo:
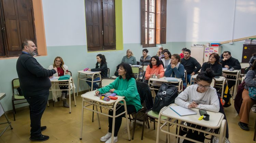
[[[75,88],[74,88],[75,85],[74,85],[73,78],[70,77],[69,80],[58,80],[58,79],[59,79],[59,77],[57,77],[57,79],[51,80],[52,86],[59,86],[59,85],[68,86],[68,89],[61,90],[61,89],[55,88],[54,90],[50,89],[49,91],[69,91],[69,113],[71,113],[71,84],[72,84],[72,88],[73,88],[74,105],[76,106]]]

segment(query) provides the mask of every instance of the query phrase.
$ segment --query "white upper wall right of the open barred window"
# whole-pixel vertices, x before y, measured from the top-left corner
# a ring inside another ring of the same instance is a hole
[[[234,38],[256,35],[256,1],[237,0]],[[167,0],[167,42],[232,38],[235,0]]]

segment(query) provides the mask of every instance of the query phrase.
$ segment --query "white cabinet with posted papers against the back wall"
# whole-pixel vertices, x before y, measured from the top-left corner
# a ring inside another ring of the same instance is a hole
[[[221,47],[197,47],[191,46],[191,57],[195,58],[201,65],[208,62],[211,53],[221,55]]]

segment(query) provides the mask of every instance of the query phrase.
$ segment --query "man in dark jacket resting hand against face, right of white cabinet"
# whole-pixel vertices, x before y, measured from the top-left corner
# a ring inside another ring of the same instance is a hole
[[[227,69],[234,68],[235,70],[241,69],[241,65],[239,61],[233,57],[231,57],[230,51],[224,51],[223,52],[223,59],[219,61],[219,63],[222,64],[222,67],[226,67]],[[228,76],[227,79],[236,79],[234,76]],[[236,81],[228,80],[228,88],[231,89],[232,86],[236,84]]]

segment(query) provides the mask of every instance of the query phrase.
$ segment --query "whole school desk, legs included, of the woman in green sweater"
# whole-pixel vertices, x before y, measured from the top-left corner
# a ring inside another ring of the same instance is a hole
[[[114,129],[115,129],[115,117],[118,117],[118,116],[120,116],[122,114],[125,114],[126,123],[127,123],[128,139],[130,141],[131,137],[130,137],[129,120],[128,120],[128,115],[127,115],[126,102],[125,102],[125,99],[124,99],[125,97],[124,96],[116,95],[115,97],[118,97],[117,100],[104,101],[104,100],[101,100],[98,96],[94,95],[95,91],[90,91],[90,92],[87,92],[87,93],[81,95],[81,97],[83,98],[83,101],[82,101],[80,140],[82,140],[84,109],[87,109],[87,110],[90,110],[90,111],[93,111],[93,112],[97,113],[99,129],[100,129],[99,114],[102,114],[102,115],[105,115],[105,116],[113,118],[112,136],[111,136],[112,143],[114,141],[113,139],[114,139]],[[124,103],[122,104],[122,103],[120,103],[120,101],[123,101]],[[85,102],[87,103],[86,105],[85,105]],[[118,115],[116,115],[116,105],[117,104],[122,104],[125,107],[125,111],[123,113],[118,114]],[[91,105],[95,106],[96,110],[92,110],[92,109],[88,108],[88,106],[91,106]],[[108,110],[113,110],[113,116],[111,116],[109,114],[105,114],[105,113],[99,112],[98,111],[98,107],[102,107],[102,108],[108,109]]]

